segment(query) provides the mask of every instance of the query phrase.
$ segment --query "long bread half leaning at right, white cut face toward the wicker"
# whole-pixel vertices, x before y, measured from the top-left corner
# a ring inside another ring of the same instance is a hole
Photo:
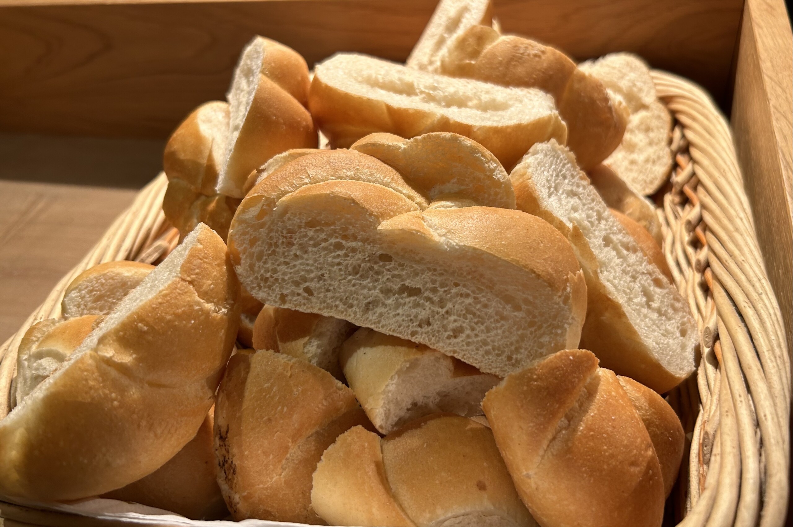
[[[587,280],[580,346],[604,367],[663,393],[695,368],[694,320],[676,288],[609,212],[554,141],[534,145],[511,174],[518,208],[557,227],[573,244]]]

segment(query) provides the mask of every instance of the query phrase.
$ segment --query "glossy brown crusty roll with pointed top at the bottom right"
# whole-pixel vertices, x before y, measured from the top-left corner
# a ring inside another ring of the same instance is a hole
[[[653,442],[591,352],[560,351],[507,376],[482,407],[540,525],[660,527],[664,481]]]

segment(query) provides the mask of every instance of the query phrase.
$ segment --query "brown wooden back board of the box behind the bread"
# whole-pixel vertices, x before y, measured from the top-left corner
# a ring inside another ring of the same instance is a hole
[[[251,36],[280,40],[309,64],[351,50],[404,60],[436,1],[0,0],[0,130],[163,138],[194,106],[224,96]],[[725,101],[741,6],[496,0],[496,17],[579,59],[638,52]]]

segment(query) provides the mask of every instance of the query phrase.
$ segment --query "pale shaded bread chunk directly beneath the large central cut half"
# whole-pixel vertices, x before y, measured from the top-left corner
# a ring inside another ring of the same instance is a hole
[[[380,433],[437,412],[481,415],[485,392],[500,380],[435,349],[363,327],[344,342],[339,362]]]

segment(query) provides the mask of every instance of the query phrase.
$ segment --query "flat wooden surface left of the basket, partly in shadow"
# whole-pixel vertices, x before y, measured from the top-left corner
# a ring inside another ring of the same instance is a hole
[[[159,172],[162,149],[162,141],[0,136],[0,342]]]

